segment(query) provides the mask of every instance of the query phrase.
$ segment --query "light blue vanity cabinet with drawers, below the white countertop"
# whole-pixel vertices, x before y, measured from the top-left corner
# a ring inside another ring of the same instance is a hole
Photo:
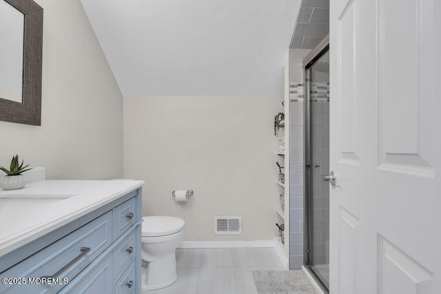
[[[0,293],[141,293],[141,221],[139,188],[1,257]]]

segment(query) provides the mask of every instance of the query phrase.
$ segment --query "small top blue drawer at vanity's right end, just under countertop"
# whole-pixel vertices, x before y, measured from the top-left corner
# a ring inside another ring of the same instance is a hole
[[[127,200],[113,209],[113,241],[136,222],[136,198]]]

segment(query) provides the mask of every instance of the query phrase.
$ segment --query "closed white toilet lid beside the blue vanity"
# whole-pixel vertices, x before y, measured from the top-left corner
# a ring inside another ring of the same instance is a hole
[[[158,237],[182,231],[185,222],[173,216],[145,216],[143,218],[143,237]]]

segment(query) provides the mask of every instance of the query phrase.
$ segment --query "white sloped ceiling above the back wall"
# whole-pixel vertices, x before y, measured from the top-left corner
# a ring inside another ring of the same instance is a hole
[[[301,0],[81,0],[124,96],[282,96]]]

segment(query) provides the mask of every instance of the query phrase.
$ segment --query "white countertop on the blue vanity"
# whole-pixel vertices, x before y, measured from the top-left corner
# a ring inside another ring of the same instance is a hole
[[[14,213],[2,213],[0,204],[0,257],[138,189],[144,183],[141,180],[45,180],[32,182],[19,190],[0,189],[0,198],[69,196],[23,212],[20,207],[15,207]]]

